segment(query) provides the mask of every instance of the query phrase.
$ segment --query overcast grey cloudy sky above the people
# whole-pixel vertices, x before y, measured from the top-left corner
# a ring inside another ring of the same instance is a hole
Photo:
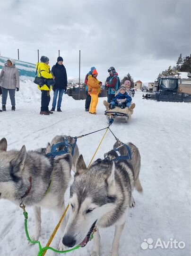
[[[114,66],[122,79],[154,82],[191,54],[191,0],[1,0],[0,54],[56,63],[58,50],[69,77],[96,66],[105,81]]]

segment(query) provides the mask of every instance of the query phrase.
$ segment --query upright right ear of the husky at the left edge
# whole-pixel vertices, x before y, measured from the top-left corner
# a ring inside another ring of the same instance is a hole
[[[22,172],[26,160],[26,147],[22,146],[21,150],[18,152],[15,159],[10,161],[10,165],[12,166],[12,174],[19,174]],[[21,175],[21,174],[20,174]]]

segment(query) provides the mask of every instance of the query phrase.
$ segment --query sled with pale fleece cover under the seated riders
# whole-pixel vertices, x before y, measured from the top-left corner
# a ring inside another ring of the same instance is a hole
[[[113,120],[115,118],[124,120],[125,122],[128,122],[130,119],[131,115],[133,114],[133,109],[135,108],[135,103],[132,104],[132,108],[120,108],[120,107],[115,107],[114,109],[109,108],[109,103],[107,101],[104,101],[104,106],[106,108],[104,114],[109,121],[109,123],[113,123]]]

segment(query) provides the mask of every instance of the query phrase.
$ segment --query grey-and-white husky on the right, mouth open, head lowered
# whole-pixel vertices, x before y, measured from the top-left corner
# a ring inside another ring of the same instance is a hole
[[[133,155],[131,160],[110,160],[114,157],[110,152],[107,154],[108,159],[97,159],[89,170],[83,156],[79,156],[74,183],[70,188],[72,210],[62,239],[66,247],[84,247],[95,226],[106,228],[115,225],[112,256],[119,255],[119,241],[128,209],[132,204],[132,191],[135,187],[138,192],[142,192],[139,182],[139,150],[131,143],[127,145]],[[116,146],[120,147],[121,155],[127,155],[124,145],[118,141],[114,147]],[[100,235],[97,230],[91,256],[99,255]]]

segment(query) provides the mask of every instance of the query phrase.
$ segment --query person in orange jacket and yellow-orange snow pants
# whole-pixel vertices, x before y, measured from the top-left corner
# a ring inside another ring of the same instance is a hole
[[[98,103],[98,94],[101,91],[100,86],[102,85],[102,82],[99,82],[97,80],[97,71],[96,69],[93,70],[92,75],[88,76],[88,81],[87,81],[87,87],[88,87],[88,92],[89,95],[91,96],[91,103],[89,106],[89,113],[96,115],[96,107]]]

